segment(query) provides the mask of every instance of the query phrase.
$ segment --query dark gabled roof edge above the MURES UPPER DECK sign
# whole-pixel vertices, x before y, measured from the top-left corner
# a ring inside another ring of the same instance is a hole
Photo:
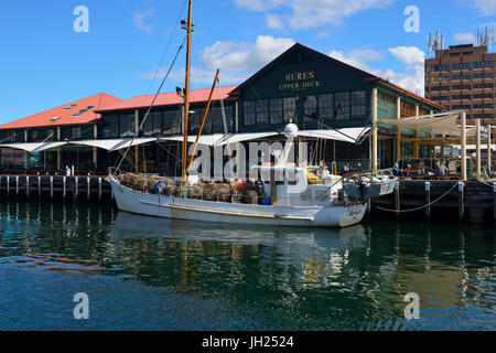
[[[342,66],[345,69],[349,69],[353,71],[355,73],[357,73],[358,75],[362,75],[364,77],[365,82],[380,82],[385,85],[390,86],[391,88],[395,88],[397,90],[401,90],[402,93],[410,95],[417,99],[420,99],[429,105],[435,106],[440,109],[443,108],[443,106],[439,105],[435,101],[432,101],[430,99],[427,99],[424,97],[421,97],[417,94],[414,94],[413,92],[410,92],[406,88],[402,88],[393,83],[390,83],[387,79],[384,79],[382,77],[373,75],[370,73],[367,73],[360,68],[357,68],[355,66],[352,66],[349,64],[346,64],[344,62],[341,62],[332,56],[325,55],[321,52],[317,52],[311,47],[304,46],[300,43],[295,43],[293,46],[291,46],[290,49],[288,49],[284,53],[282,53],[281,55],[279,55],[278,57],[276,57],[274,60],[272,60],[269,64],[267,64],[266,66],[263,66],[261,69],[259,69],[256,74],[254,74],[250,78],[248,78],[247,81],[245,81],[242,84],[240,84],[239,86],[237,86],[236,89],[234,89],[230,94],[231,95],[237,95],[240,90],[245,89],[250,83],[255,82],[256,79],[258,79],[260,76],[265,75],[268,71],[272,69],[272,67],[274,67],[276,65],[278,65],[279,63],[283,62],[285,58],[290,57],[293,53],[295,52],[303,52],[303,53],[308,53],[311,56],[314,56],[319,60],[323,60],[323,61],[327,61],[334,65],[338,65]]]

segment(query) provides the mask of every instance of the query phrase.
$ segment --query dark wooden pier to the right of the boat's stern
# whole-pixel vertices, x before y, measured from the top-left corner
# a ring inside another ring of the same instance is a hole
[[[371,200],[370,207],[370,214],[389,212],[397,217],[430,218],[440,211],[452,214],[453,221],[496,222],[496,181],[400,180],[392,194]]]

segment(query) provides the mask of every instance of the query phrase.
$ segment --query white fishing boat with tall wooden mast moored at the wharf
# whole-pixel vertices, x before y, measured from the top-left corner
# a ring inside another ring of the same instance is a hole
[[[155,179],[155,188],[150,188],[149,184],[151,181],[143,176],[144,181],[142,184],[148,185],[144,188],[136,183],[125,183],[123,180],[126,178],[122,175],[126,174],[119,175],[119,168],[117,168],[117,170],[110,172],[108,180],[119,210],[136,214],[192,220],[196,222],[263,224],[270,226],[346,227],[359,223],[364,217],[366,204],[363,200],[352,201],[344,197],[342,192],[343,183],[339,176],[336,176],[335,182],[332,184],[310,184],[308,180],[308,167],[291,165],[288,163],[289,151],[293,146],[294,138],[298,137],[298,127],[294,124],[289,124],[285,128],[284,135],[288,140],[285,141],[283,151],[281,151],[282,157],[271,165],[254,167],[254,169],[258,170],[261,179],[259,182],[263,185],[260,194],[257,194],[257,196],[254,195],[254,192],[248,194],[250,196],[250,201],[248,202],[242,202],[246,199],[246,194],[242,194],[241,197],[229,194],[224,195],[222,200],[212,200],[213,197],[204,197],[205,192],[202,191],[194,197],[192,196],[191,191],[195,188],[195,182],[192,182],[193,179],[188,178],[192,176],[188,175],[188,170],[193,156],[190,159],[190,163],[186,162],[188,141],[187,117],[190,111],[190,53],[193,25],[191,7],[192,1],[190,0],[188,20],[183,21],[183,28],[187,30],[187,51],[186,85],[184,89],[185,114],[183,121],[182,180],[172,182],[172,179],[162,181]],[[194,150],[202,133],[217,77],[218,71],[214,79],[211,97],[204,113]],[[129,143],[129,146],[131,145],[132,142]],[[280,178],[276,179],[276,174],[280,175]],[[166,185],[171,185],[171,183],[176,183],[177,186],[173,185],[168,188]],[[205,185],[205,183],[202,183],[202,185]],[[206,185],[212,185],[212,183],[207,183]],[[224,183],[223,186],[228,185]],[[204,188],[206,189],[207,186]],[[231,193],[236,193],[236,191],[231,190]]]

